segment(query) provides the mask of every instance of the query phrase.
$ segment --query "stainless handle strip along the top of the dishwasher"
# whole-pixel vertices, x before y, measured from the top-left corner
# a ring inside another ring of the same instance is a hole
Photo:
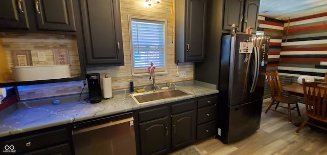
[[[116,125],[116,124],[122,124],[122,123],[130,122],[130,121],[134,121],[134,118],[130,117],[130,118],[126,118],[126,119],[122,119],[122,120],[118,120],[118,121],[111,121],[111,122],[100,124],[100,125],[95,125],[95,126],[82,128],[82,129],[73,130],[72,134],[76,135],[76,134],[80,134],[82,132],[96,130],[96,129],[100,129],[100,128],[104,128],[104,127],[108,127],[108,126],[112,126],[112,125]],[[130,125],[132,126],[133,123],[130,123]]]

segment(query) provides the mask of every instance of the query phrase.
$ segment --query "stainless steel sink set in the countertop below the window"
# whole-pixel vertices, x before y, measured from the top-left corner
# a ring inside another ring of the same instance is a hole
[[[145,92],[145,93],[137,93],[131,94],[131,97],[137,104],[144,104],[150,101],[157,101],[162,99],[167,99],[171,97],[178,97],[190,95],[189,93],[183,92],[181,90],[173,89],[173,90],[159,90],[155,92]]]

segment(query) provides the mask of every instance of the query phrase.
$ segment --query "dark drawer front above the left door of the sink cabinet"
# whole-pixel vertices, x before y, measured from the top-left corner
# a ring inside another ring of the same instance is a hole
[[[169,114],[168,106],[157,107],[148,110],[144,110],[142,112],[138,112],[138,121],[145,122],[149,120],[154,120],[162,117],[166,117]]]

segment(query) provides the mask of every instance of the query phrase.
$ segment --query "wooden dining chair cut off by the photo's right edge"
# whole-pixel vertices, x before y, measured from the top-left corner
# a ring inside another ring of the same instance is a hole
[[[307,124],[327,130],[327,83],[302,80],[307,119],[295,131],[295,135]]]

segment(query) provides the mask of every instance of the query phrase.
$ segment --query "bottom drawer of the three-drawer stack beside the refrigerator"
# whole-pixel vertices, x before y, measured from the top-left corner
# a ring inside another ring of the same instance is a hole
[[[197,127],[197,140],[202,140],[204,138],[214,136],[216,131],[216,121],[207,122]]]

